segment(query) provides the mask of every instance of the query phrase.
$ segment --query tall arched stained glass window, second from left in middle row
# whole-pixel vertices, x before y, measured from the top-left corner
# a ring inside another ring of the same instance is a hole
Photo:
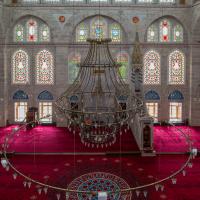
[[[54,58],[52,53],[45,49],[36,56],[36,83],[54,83]]]

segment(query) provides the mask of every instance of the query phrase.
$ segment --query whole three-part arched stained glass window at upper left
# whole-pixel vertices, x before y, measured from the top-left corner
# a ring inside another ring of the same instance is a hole
[[[14,28],[15,42],[49,42],[49,27],[36,18],[20,20]]]

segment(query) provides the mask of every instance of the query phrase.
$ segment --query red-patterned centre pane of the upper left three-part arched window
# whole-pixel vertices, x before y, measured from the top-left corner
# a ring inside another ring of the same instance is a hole
[[[27,22],[27,41],[28,42],[38,41],[38,25],[34,19],[30,19]]]

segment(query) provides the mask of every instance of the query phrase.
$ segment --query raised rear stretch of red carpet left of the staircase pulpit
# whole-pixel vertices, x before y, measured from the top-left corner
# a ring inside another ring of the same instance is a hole
[[[0,129],[0,142],[4,141],[7,133],[10,133],[15,126]],[[120,145],[126,144],[126,145]],[[69,133],[67,128],[57,128],[55,126],[38,126],[30,131],[21,131],[20,137],[15,136],[10,150],[16,152],[113,152],[117,151],[138,151],[137,144],[131,133],[123,133],[123,137],[107,148],[89,148],[81,143],[78,134],[75,136]]]

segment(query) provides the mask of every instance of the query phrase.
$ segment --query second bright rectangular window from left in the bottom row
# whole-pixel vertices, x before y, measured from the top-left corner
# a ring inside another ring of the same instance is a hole
[[[43,118],[47,115],[50,115],[50,117]],[[44,123],[52,122],[52,102],[39,103],[39,118],[42,118],[40,121]]]

